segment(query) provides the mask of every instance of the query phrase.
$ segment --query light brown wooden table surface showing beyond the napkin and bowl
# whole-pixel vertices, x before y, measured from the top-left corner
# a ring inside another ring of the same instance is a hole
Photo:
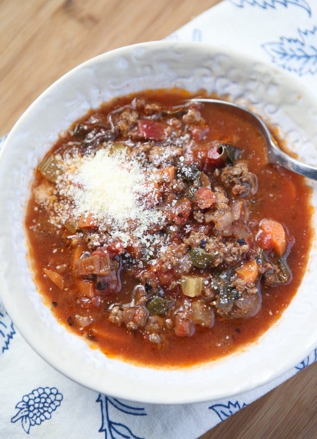
[[[2,0],[0,135],[55,79],[110,49],[159,40],[217,0]],[[316,438],[317,364],[203,439]]]

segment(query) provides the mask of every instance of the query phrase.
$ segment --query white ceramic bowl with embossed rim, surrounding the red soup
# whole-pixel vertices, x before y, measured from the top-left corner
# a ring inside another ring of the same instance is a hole
[[[61,130],[119,95],[181,87],[227,95],[277,126],[302,160],[317,163],[317,102],[289,75],[227,49],[154,42],[93,58],[56,81],[20,117],[0,156],[0,294],[17,329],[49,364],[94,390],[152,403],[217,399],[260,386],[317,346],[316,248],[295,298],[261,339],[217,361],[179,370],[109,359],[59,325],[32,278],[24,231],[33,169]],[[314,187],[312,204],[317,206]],[[314,214],[314,227],[317,216]]]

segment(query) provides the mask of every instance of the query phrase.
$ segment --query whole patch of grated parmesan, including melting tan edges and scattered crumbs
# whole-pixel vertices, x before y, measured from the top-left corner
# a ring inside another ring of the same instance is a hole
[[[163,223],[156,208],[158,193],[153,166],[108,148],[86,156],[56,155],[59,174],[55,189],[40,188],[37,202],[51,210],[50,222],[61,227],[69,218],[98,221],[90,241],[98,246],[119,240],[126,248],[131,239],[150,246],[151,224]]]

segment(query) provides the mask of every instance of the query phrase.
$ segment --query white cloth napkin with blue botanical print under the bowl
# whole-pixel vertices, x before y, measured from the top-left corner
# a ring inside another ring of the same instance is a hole
[[[167,37],[222,45],[290,71],[317,93],[317,1],[225,0]],[[0,304],[0,438],[198,438],[317,360],[220,401],[161,406],[73,383],[23,340]]]

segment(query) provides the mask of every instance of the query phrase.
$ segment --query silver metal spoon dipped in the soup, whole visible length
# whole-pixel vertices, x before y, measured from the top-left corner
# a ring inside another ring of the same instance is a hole
[[[237,115],[243,116],[245,119],[252,122],[253,125],[259,129],[259,131],[261,131],[266,143],[269,163],[275,163],[276,165],[283,166],[290,171],[303,175],[304,177],[317,180],[317,168],[314,166],[305,165],[304,163],[293,159],[293,157],[290,157],[281,151],[273,142],[272,135],[263,120],[261,120],[260,117],[258,117],[252,111],[247,110],[244,107],[240,107],[239,105],[232,104],[231,102],[220,101],[219,99],[194,98],[190,99],[189,102],[203,102],[217,105],[220,108],[230,110]]]

